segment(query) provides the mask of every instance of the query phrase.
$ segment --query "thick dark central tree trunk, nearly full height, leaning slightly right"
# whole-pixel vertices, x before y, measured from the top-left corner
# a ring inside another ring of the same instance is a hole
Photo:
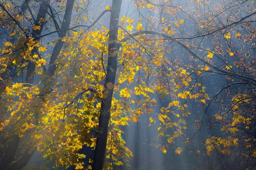
[[[107,93],[107,97],[105,99],[102,99],[101,103],[99,129],[102,130],[102,133],[99,133],[99,136],[97,136],[92,170],[103,170],[105,161],[105,153],[108,139],[108,122],[110,120],[110,109],[113,96],[113,88],[107,89],[107,84],[112,83],[114,85],[116,80],[117,54],[119,50],[119,46],[117,43],[117,34],[121,4],[122,0],[112,1],[108,40],[108,68],[105,80],[105,93]]]

